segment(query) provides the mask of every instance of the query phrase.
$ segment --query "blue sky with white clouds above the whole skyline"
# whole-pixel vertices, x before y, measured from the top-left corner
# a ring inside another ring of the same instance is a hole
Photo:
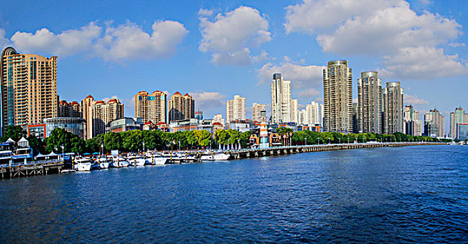
[[[236,94],[270,103],[273,73],[300,105],[322,100],[322,68],[348,59],[356,79],[398,80],[420,119],[468,109],[466,1],[8,1],[0,45],[59,56],[61,99],[190,93],[206,118]],[[250,109],[248,109],[250,117]],[[446,117],[448,123],[448,117]],[[448,128],[446,128],[448,131]]]

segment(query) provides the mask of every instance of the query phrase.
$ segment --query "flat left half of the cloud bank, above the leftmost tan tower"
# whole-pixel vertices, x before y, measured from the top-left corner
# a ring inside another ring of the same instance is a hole
[[[35,33],[17,31],[11,41],[19,52],[47,52],[66,56],[91,49],[93,40],[99,38],[101,27],[94,22],[80,29],[53,33],[43,28]]]

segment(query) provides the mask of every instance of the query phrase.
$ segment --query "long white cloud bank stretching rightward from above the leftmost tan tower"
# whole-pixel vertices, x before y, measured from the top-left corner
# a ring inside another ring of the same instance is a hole
[[[187,33],[183,24],[172,20],[155,21],[151,33],[146,33],[142,26],[133,22],[116,27],[107,22],[105,28],[91,22],[80,29],[61,33],[53,33],[46,28],[33,33],[17,31],[10,39],[19,52],[67,56],[93,51],[94,55],[106,61],[125,61],[170,56]],[[5,31],[0,29],[0,45],[10,43],[4,36]]]

